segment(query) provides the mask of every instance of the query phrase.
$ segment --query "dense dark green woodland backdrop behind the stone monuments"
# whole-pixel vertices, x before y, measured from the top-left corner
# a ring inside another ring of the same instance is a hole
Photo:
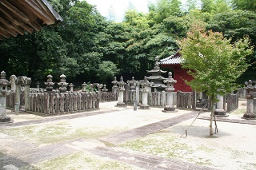
[[[186,37],[193,22],[222,32],[232,42],[248,35],[256,44],[254,0],[189,0],[186,8],[180,0],[158,0],[146,14],[130,6],[123,22],[102,17],[86,1],[48,1],[63,22],[1,41],[0,68],[8,76],[46,81],[48,74],[58,80],[64,73],[74,83],[106,83],[121,74],[139,79],[152,69],[154,57],[168,57],[178,49],[177,40]],[[255,55],[246,58],[251,66],[239,82],[256,79],[251,74]]]

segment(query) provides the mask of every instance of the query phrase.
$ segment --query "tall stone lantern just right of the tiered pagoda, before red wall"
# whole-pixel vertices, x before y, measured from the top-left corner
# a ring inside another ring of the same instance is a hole
[[[166,101],[166,107],[162,110],[164,113],[173,112],[175,110],[174,107],[174,83],[177,83],[172,77],[172,73],[168,73],[168,78],[163,81],[166,83],[166,92],[167,92],[167,101]]]

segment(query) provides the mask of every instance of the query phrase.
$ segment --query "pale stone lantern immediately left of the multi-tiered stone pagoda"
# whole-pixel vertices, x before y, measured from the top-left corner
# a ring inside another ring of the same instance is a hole
[[[139,84],[142,86],[141,92],[142,92],[142,105],[140,105],[139,109],[149,109],[148,105],[148,93],[149,89],[148,87],[154,85],[153,82],[150,83],[150,81],[147,80],[146,77],[144,77],[144,80],[139,81]]]

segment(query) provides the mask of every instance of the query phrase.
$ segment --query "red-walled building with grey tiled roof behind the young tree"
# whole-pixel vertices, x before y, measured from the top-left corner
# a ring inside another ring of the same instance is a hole
[[[175,92],[178,90],[182,92],[192,92],[193,90],[189,85],[186,85],[185,80],[191,81],[193,77],[187,73],[187,69],[182,69],[183,58],[179,51],[180,49],[170,57],[160,60],[160,65],[161,67],[173,70],[174,80],[177,81],[174,85]]]

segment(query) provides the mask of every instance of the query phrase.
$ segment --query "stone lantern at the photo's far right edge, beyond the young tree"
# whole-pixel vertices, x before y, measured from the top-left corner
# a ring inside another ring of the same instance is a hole
[[[247,98],[247,108],[246,113],[242,118],[244,119],[255,119],[256,115],[254,114],[254,91],[255,86],[253,85],[253,81],[245,82],[246,86],[246,98]]]

